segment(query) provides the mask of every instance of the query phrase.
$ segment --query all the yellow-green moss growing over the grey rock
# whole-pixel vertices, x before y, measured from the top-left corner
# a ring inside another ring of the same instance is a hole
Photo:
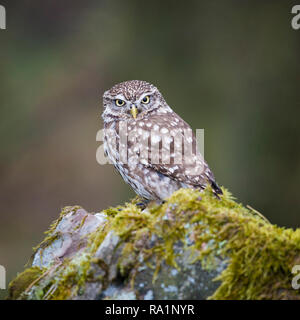
[[[181,189],[163,205],[151,204],[144,211],[136,206],[138,199],[105,210],[107,221],[89,235],[85,251],[56,266],[55,277],[34,287],[35,297],[68,299],[84,291],[86,282],[93,278],[93,263],[104,270],[99,279],[105,288],[109,284],[108,266],[95,261],[94,254],[114,230],[123,244],[118,269],[132,286],[145,263],[154,271],[153,281],[163,263],[180,270],[176,262],[180,252],[174,245],[181,243],[182,250],[191,252],[192,263],[201,261],[208,270],[217,269],[220,259],[226,260],[225,270],[216,279],[221,285],[211,299],[299,298],[299,290],[291,289],[291,269],[299,264],[300,230],[274,226],[255,210],[236,203],[227,190],[223,192],[218,200],[209,188],[204,192]],[[59,236],[55,231],[58,223],[67,212],[77,209],[63,210],[40,247]],[[24,288],[14,289],[12,297],[18,297]]]

